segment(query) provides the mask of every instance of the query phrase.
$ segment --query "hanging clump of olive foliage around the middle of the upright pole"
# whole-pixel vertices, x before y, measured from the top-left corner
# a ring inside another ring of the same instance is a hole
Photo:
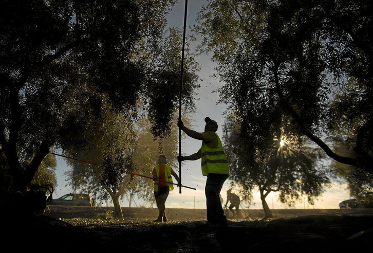
[[[152,71],[147,74],[144,99],[148,102],[147,117],[152,123],[150,131],[155,138],[170,136],[173,115],[179,105],[182,31],[171,27],[167,33],[166,37],[151,45],[151,52],[155,57],[148,66]],[[184,58],[181,102],[187,113],[195,109],[194,96],[199,87],[195,73],[200,68],[190,52],[188,41],[185,55],[188,57]]]

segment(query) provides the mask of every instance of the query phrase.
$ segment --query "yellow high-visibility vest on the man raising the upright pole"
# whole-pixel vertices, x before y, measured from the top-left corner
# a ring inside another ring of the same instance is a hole
[[[201,167],[202,175],[207,176],[209,173],[229,175],[228,162],[220,138],[215,133],[218,144],[215,148],[210,148],[202,141],[201,147]]]

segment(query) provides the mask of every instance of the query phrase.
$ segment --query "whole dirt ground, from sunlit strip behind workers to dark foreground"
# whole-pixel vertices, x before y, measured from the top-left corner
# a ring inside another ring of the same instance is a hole
[[[113,219],[110,211],[50,207],[36,218],[6,221],[3,247],[15,252],[347,252],[373,246],[373,209],[273,210],[269,220],[261,219],[261,210],[243,210],[240,218],[228,216],[228,228],[216,229],[206,227],[203,209],[167,209],[170,221],[163,224],[152,222],[156,209],[123,208],[123,220]]]

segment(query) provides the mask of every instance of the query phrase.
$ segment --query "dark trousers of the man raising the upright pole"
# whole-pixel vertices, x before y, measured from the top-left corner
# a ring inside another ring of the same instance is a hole
[[[204,193],[206,194],[207,222],[209,224],[227,224],[219,197],[221,187],[227,178],[226,174],[209,173],[207,175]]]

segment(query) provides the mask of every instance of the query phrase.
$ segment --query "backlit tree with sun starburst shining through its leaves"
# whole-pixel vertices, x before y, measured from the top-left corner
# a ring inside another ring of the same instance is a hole
[[[279,201],[289,206],[302,195],[313,205],[329,183],[320,149],[305,147],[284,135],[266,140],[260,137],[262,145],[255,148],[253,138],[259,137],[243,135],[234,115],[227,118],[223,128],[230,178],[240,186],[246,200],[250,201],[252,191],[258,188],[266,217],[272,217],[266,202],[270,192],[278,192]]]

